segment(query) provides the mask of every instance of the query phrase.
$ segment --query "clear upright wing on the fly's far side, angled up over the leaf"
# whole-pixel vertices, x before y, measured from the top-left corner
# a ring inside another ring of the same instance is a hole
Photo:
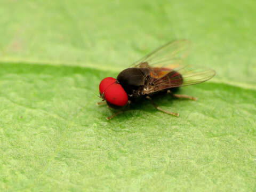
[[[164,68],[165,66],[180,64],[187,57],[189,47],[190,42],[186,39],[166,43],[140,60],[135,61],[130,67]]]

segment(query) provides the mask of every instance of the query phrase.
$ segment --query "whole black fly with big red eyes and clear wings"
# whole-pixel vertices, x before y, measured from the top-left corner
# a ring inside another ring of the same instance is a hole
[[[141,99],[148,99],[156,109],[178,117],[178,113],[158,107],[151,97],[158,93],[169,93],[176,98],[196,100],[189,95],[175,94],[175,90],[177,87],[205,82],[215,75],[214,70],[184,63],[189,45],[185,39],[169,42],[134,62],[117,78],[102,79],[99,85],[102,102],[98,102],[98,105],[107,103],[109,107],[119,109],[107,119],[123,113],[131,103]]]

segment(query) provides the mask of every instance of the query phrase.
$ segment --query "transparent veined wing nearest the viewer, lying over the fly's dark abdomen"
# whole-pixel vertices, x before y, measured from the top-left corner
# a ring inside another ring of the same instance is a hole
[[[154,68],[152,68],[154,70]],[[156,73],[163,73],[162,69],[157,69]],[[166,69],[167,71],[167,69]],[[215,75],[215,71],[204,67],[195,67],[190,65],[179,65],[177,68],[169,68],[169,72],[160,78],[154,78],[151,86],[145,90],[145,93],[157,92],[172,87],[194,85],[205,82]],[[152,75],[151,75],[152,76]]]

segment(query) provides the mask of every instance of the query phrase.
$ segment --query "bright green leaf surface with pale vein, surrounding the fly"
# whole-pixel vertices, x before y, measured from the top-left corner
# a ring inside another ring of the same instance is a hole
[[[0,3],[1,191],[255,191],[255,1]],[[173,39],[217,75],[111,121],[98,85]]]

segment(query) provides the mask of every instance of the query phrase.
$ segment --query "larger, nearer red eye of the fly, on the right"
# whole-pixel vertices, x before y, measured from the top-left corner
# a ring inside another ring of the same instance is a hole
[[[124,91],[123,87],[114,83],[110,85],[104,92],[105,99],[113,105],[125,106],[128,102],[128,95]]]

